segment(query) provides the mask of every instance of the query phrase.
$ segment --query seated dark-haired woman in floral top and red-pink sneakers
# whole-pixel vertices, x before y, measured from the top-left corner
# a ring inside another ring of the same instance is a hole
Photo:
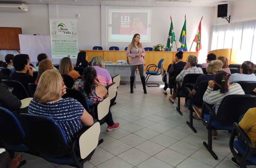
[[[94,67],[85,68],[83,79],[76,80],[72,88],[83,93],[88,101],[89,107],[98,104],[107,97],[108,90],[97,81],[97,72]],[[114,123],[110,110],[106,116],[106,123],[108,124],[107,131],[116,130],[119,127],[118,122]]]

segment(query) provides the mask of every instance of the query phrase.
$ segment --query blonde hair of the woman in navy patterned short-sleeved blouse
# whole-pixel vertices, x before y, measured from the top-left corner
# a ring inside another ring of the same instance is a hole
[[[38,103],[47,103],[61,97],[63,79],[56,70],[46,70],[40,77],[34,100]]]

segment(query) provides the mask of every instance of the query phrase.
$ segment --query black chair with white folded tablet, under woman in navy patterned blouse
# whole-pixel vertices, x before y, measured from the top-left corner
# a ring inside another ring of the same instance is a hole
[[[20,114],[19,119],[30,149],[55,164],[82,168],[91,159],[95,148],[103,142],[102,139],[98,141],[98,122],[83,128],[75,135],[73,142],[68,144],[61,126],[54,119],[29,114]]]

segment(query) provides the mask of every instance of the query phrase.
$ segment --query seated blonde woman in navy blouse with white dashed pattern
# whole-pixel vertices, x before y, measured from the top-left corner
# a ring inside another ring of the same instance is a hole
[[[65,85],[61,74],[56,70],[45,71],[39,80],[28,114],[46,116],[61,126],[68,144],[74,134],[84,126],[93,124],[92,116],[73,98],[61,98],[65,94]]]

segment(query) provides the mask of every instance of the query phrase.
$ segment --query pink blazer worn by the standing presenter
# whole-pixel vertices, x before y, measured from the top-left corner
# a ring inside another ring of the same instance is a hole
[[[136,54],[142,54],[142,56],[136,57]],[[143,46],[142,48],[139,48],[139,52],[137,52],[136,48],[131,48],[131,44],[129,44],[127,47],[126,55],[128,57],[131,57],[130,65],[140,65],[145,63],[143,58],[143,56],[145,55],[145,49]]]

